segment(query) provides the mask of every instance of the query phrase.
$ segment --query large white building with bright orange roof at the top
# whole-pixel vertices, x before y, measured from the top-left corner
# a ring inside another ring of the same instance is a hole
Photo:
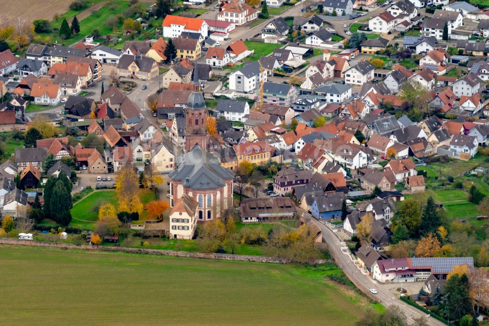
[[[218,19],[222,20],[223,19]],[[209,25],[202,19],[166,15],[163,20],[163,37],[175,38],[180,37],[182,32],[200,33],[203,38],[208,35]]]

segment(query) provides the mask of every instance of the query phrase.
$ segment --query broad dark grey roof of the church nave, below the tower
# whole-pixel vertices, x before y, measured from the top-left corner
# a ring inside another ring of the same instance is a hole
[[[221,166],[217,157],[205,152],[199,145],[178,157],[178,163],[178,169],[170,172],[170,180],[181,181],[183,187],[217,189],[234,177],[231,170]]]

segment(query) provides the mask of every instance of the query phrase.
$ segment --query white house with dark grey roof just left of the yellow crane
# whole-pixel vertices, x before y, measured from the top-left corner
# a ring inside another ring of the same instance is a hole
[[[267,84],[267,72],[262,72],[260,70],[260,64],[256,61],[252,61],[244,65],[243,68],[231,72],[228,80],[230,91],[238,91],[243,93],[254,92],[260,89],[262,80],[265,82],[265,84]],[[268,103],[267,101],[264,102]]]

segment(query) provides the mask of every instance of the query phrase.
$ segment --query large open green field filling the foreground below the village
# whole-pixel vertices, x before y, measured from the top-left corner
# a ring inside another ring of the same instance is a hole
[[[1,325],[353,325],[358,298],[305,267],[2,246]],[[7,308],[8,307],[8,308]]]

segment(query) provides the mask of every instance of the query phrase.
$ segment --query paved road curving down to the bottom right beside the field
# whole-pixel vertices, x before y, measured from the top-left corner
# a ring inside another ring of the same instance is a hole
[[[378,297],[380,302],[384,306],[395,305],[396,307],[401,309],[406,314],[407,320],[410,324],[414,324],[414,318],[426,316],[426,314],[423,313],[422,311],[400,301],[399,294],[396,294],[395,290],[393,291],[392,289],[389,289],[383,284],[378,283],[370,276],[363,275],[358,270],[356,265],[351,261],[350,256],[345,255],[341,252],[342,246],[340,244],[340,240],[338,236],[335,233],[333,233],[333,231],[330,228],[328,228],[325,224],[317,221],[311,215],[305,213],[305,216],[309,217],[321,228],[323,232],[323,241],[328,244],[328,249],[333,259],[336,261],[336,264],[343,270],[343,272],[349,279],[353,279],[356,282],[356,284],[363,285],[362,288],[360,288],[360,290],[362,290],[363,292],[368,292],[369,289],[372,288],[377,289],[378,294],[376,296]],[[445,325],[440,321],[431,317],[429,317],[427,320],[429,325],[437,325],[437,326]]]

